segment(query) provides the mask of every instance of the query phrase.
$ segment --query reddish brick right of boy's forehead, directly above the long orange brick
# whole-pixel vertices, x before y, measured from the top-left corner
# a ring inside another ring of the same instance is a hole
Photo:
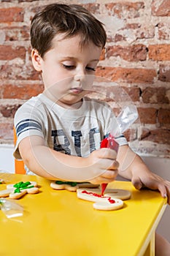
[[[112,56],[120,56],[125,61],[145,61],[147,59],[147,48],[145,45],[109,46],[107,48],[107,58]]]

